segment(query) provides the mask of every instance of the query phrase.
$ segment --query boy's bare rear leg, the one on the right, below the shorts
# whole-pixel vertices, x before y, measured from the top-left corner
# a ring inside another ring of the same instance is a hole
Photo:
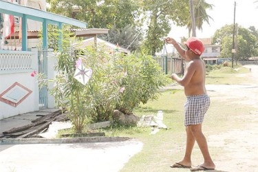
[[[208,144],[204,134],[202,133],[202,124],[199,125],[191,125],[191,131],[195,140],[202,151],[202,155],[204,156],[204,163],[201,166],[205,166],[207,168],[215,169],[215,164],[211,159],[211,155],[208,152]]]

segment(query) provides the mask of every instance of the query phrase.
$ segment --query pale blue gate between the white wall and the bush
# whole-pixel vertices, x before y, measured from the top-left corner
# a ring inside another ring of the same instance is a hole
[[[47,77],[47,51],[39,50],[39,73]],[[47,87],[39,88],[39,109],[47,109]]]

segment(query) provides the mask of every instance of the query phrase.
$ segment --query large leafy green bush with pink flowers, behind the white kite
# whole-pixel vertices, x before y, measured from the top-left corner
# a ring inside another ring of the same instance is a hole
[[[115,109],[127,113],[140,103],[158,98],[159,87],[168,81],[151,56],[109,54],[101,46],[98,50],[78,48],[81,47],[78,44],[71,45],[69,33],[63,32],[63,35],[61,51],[54,53],[58,60],[54,67],[57,74],[50,94],[58,107],[67,110],[78,133],[83,131],[86,122],[110,120]],[[78,61],[92,69],[86,85],[74,78]]]

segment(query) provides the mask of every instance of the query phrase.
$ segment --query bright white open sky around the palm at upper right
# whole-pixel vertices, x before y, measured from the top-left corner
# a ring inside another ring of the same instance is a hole
[[[251,25],[258,29],[258,2],[256,0],[206,0],[206,3],[213,4],[213,10],[207,10],[206,13],[213,18],[209,20],[210,25],[204,23],[202,30],[196,29],[196,36],[200,39],[211,38],[216,30],[226,24],[234,23],[234,3],[235,23],[243,28],[249,28]],[[180,37],[188,37],[188,30],[185,27],[172,25],[169,35],[176,41]]]

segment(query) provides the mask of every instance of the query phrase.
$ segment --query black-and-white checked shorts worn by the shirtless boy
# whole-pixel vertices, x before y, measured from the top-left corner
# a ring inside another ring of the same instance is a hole
[[[186,96],[184,104],[184,125],[197,125],[204,121],[204,114],[210,106],[210,98],[207,94]]]

